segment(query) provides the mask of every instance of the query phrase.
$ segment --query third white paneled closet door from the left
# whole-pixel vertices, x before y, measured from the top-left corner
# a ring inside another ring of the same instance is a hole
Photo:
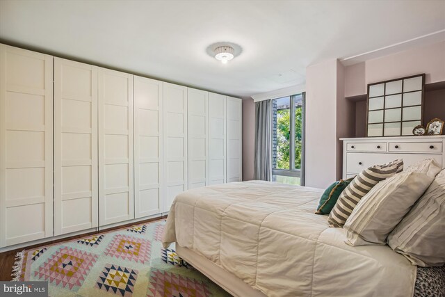
[[[99,68],[99,225],[132,218],[133,75]]]

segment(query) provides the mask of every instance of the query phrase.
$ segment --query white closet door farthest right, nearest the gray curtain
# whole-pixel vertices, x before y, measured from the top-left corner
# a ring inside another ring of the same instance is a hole
[[[242,103],[227,97],[227,182],[241,182],[242,176]]]

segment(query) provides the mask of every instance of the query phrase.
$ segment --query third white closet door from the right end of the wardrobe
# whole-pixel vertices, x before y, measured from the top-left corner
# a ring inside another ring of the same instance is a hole
[[[209,93],[187,89],[188,188],[209,184]]]

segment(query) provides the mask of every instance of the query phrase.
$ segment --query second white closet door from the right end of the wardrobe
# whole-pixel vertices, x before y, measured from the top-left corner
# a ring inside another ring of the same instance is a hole
[[[209,93],[209,184],[226,182],[226,97]]]

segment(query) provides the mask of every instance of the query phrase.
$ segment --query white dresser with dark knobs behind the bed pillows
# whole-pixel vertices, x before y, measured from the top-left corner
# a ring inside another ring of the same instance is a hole
[[[403,159],[404,167],[423,159],[435,159],[445,167],[445,136],[402,136],[341,138],[343,141],[343,178],[395,159]]]

